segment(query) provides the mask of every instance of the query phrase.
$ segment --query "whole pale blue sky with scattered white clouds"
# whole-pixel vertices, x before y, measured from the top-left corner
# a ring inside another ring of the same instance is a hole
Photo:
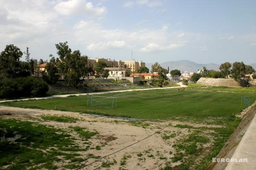
[[[49,60],[82,55],[145,62],[256,62],[256,0],[0,0],[0,50]]]

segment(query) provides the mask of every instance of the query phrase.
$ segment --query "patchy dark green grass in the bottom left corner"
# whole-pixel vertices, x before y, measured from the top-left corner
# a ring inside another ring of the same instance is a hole
[[[2,136],[6,138],[19,136],[15,143],[1,140],[0,169],[9,165],[6,170],[26,170],[31,167],[32,170],[51,170],[56,168],[55,162],[61,161],[58,156],[64,156],[64,160],[80,156],[77,153],[67,153],[65,148],[69,148],[69,151],[81,150],[63,130],[15,119],[0,119],[0,129]]]

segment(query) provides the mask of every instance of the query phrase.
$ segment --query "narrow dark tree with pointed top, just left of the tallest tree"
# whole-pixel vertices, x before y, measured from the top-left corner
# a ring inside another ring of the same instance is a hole
[[[58,68],[56,66],[56,60],[55,57],[50,55],[51,57],[49,63],[45,66],[46,71],[43,72],[43,79],[48,84],[53,84],[58,81],[59,75],[58,75]]]

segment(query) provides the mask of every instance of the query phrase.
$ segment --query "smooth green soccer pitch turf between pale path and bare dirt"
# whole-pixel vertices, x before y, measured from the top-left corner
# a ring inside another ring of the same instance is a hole
[[[101,95],[117,97],[117,107],[113,109],[87,107],[87,98],[90,96],[9,102],[1,105],[166,120],[177,116],[188,116],[192,119],[207,116],[227,117],[247,107],[241,105],[241,96],[248,96],[252,101],[256,99],[256,95],[244,88],[239,88],[241,93],[200,90],[202,88],[186,89],[183,92],[168,89]]]

